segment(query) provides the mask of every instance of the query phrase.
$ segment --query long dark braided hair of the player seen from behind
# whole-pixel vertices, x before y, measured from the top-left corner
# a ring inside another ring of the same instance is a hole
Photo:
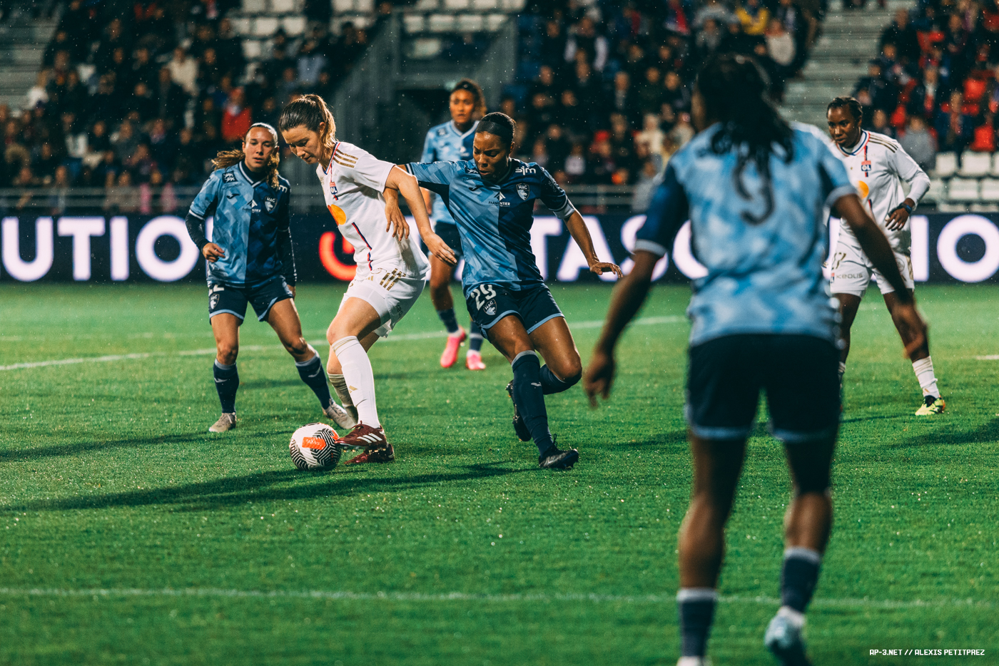
[[[776,155],[775,148],[780,149],[785,163],[794,157],[791,128],[769,99],[766,74],[751,58],[740,55],[712,58],[697,75],[695,85],[704,100],[704,115],[721,124],[711,137],[711,152],[736,153],[732,174],[735,192],[742,199],[752,198],[742,182],[742,173],[749,162],[763,181],[766,210],[761,216],[742,213],[746,223],[758,225],[774,209],[770,157]]]

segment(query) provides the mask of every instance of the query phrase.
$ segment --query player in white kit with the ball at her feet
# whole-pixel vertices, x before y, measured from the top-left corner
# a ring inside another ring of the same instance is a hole
[[[337,126],[323,98],[306,95],[289,103],[278,126],[292,152],[307,164],[317,165],[327,208],[340,233],[355,248],[357,274],[327,331],[330,380],[344,407],[357,419],[342,442],[364,449],[345,464],[389,462],[396,454],[378,417],[368,349],[388,335],[420,298],[429,265],[398,209],[387,215],[386,188],[406,199],[435,256],[451,264],[455,256],[431,230],[417,179],[391,162],[337,141]]]

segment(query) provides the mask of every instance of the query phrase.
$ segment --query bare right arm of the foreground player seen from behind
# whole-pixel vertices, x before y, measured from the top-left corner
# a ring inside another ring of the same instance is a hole
[[[892,311],[891,318],[895,321],[899,333],[908,333],[908,335],[903,333],[902,338],[909,340],[905,346],[905,355],[910,356],[926,341],[926,323],[916,312],[916,303],[912,298],[912,293],[906,289],[905,283],[902,282],[902,274],[898,272],[895,255],[891,251],[891,246],[888,245],[888,239],[874,223],[870,214],[867,213],[867,209],[860,203],[860,198],[856,195],[840,197],[836,200],[833,210],[853,230],[853,235],[860,243],[860,248],[871,260],[874,268],[880,271],[888,284],[895,288],[898,306]]]

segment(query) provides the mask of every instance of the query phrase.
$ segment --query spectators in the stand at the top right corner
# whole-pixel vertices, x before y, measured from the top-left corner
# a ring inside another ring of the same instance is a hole
[[[864,127],[896,138],[924,169],[936,153],[996,150],[999,3],[921,0],[900,9],[853,90]]]

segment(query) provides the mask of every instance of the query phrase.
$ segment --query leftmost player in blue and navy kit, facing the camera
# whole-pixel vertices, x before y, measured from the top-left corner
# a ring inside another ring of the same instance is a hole
[[[295,257],[289,228],[288,181],[278,174],[278,133],[266,123],[250,127],[239,150],[223,151],[191,203],[187,228],[207,261],[208,317],[215,333],[215,387],[222,415],[209,430],[236,427],[236,356],[247,304],[278,333],[295,358],[299,376],[338,423],[350,415],[330,396],[323,361],[302,336],[295,309]],[[214,216],[209,233],[205,221]],[[212,240],[206,238],[211,235]]]

